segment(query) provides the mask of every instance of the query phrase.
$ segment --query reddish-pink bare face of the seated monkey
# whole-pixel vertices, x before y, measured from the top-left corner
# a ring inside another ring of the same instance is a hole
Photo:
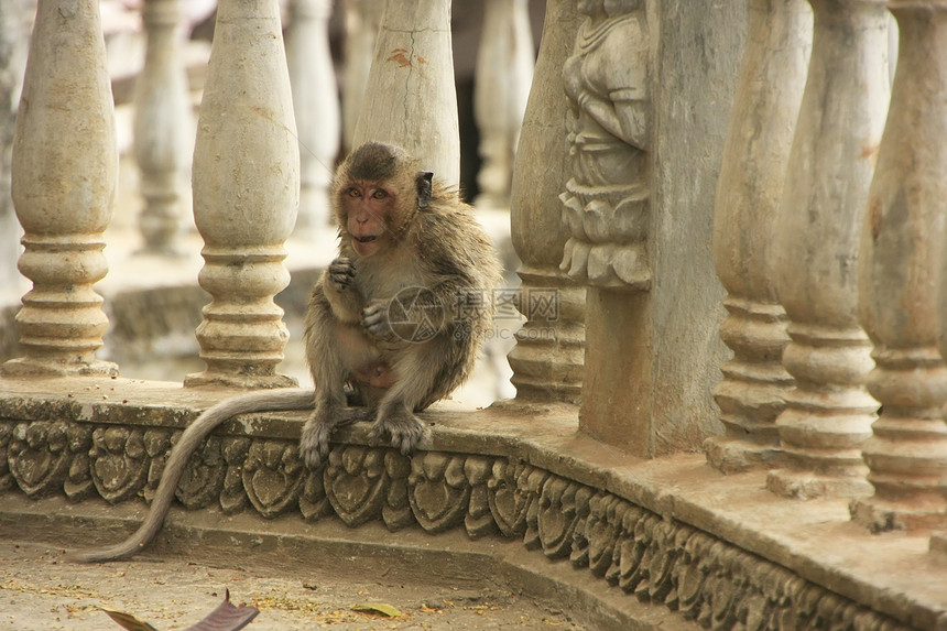
[[[392,188],[377,182],[356,182],[342,191],[341,203],[346,229],[360,257],[374,254],[388,244],[398,203]]]

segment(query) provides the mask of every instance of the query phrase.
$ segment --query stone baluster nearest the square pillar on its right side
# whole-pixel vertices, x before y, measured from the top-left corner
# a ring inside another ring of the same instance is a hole
[[[751,0],[714,215],[714,260],[727,290],[720,337],[733,358],[714,389],[725,433],[704,446],[725,472],[773,463],[775,421],[793,383],[781,363],[788,337],[772,246],[810,45],[804,0]]]

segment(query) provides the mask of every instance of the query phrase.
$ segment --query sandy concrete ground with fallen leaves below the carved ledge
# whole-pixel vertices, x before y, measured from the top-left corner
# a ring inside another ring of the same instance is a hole
[[[276,576],[266,567],[224,568],[182,558],[76,565],[63,548],[0,538],[0,631],[120,630],[101,608],[130,613],[159,631],[182,630],[230,590],[260,610],[246,629],[584,629],[554,606],[488,587],[404,584],[384,575],[340,579],[333,568]],[[396,608],[395,618],[352,608]]]

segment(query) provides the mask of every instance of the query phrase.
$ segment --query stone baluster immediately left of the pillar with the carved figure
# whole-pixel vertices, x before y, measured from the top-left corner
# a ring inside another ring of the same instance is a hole
[[[559,271],[567,235],[558,192],[570,170],[562,137],[549,131],[565,126],[563,64],[578,25],[575,2],[547,0],[513,164],[511,236],[522,262],[518,271],[523,281],[520,311],[526,316],[509,355],[518,401],[578,403],[581,396],[586,290]]]

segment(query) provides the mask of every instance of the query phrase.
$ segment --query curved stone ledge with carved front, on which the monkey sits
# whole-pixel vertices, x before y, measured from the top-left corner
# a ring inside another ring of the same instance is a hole
[[[86,502],[63,502],[64,492],[150,497],[172,433],[232,394],[121,379],[0,387],[0,449],[11,467],[0,469],[4,503],[17,490],[55,493],[67,512]],[[858,618],[867,629],[897,628],[895,620],[947,628],[947,563],[928,551],[926,533],[871,535],[849,521],[842,501],[776,498],[765,472],[725,477],[703,455],[625,456],[576,432],[568,406],[474,411],[448,402],[424,417],[433,431],[413,458],[366,447],[367,428],[356,426],[339,434],[344,445],[323,476],[313,476],[294,452],[304,414],[246,415],[208,440],[178,497],[188,507],[252,507],[264,516],[298,509],[317,524],[335,522],[333,514],[349,525],[383,522],[399,531],[383,537],[391,542],[417,524],[431,533],[464,529],[471,540],[499,531],[605,576],[602,590],[617,584],[715,628],[748,624],[751,613],[770,622],[795,616],[803,625],[829,616]],[[57,432],[75,446],[51,447]],[[28,468],[23,454],[34,458]],[[58,464],[40,471],[40,461]],[[715,596],[721,589],[727,607]],[[799,599],[809,609],[797,610]]]

